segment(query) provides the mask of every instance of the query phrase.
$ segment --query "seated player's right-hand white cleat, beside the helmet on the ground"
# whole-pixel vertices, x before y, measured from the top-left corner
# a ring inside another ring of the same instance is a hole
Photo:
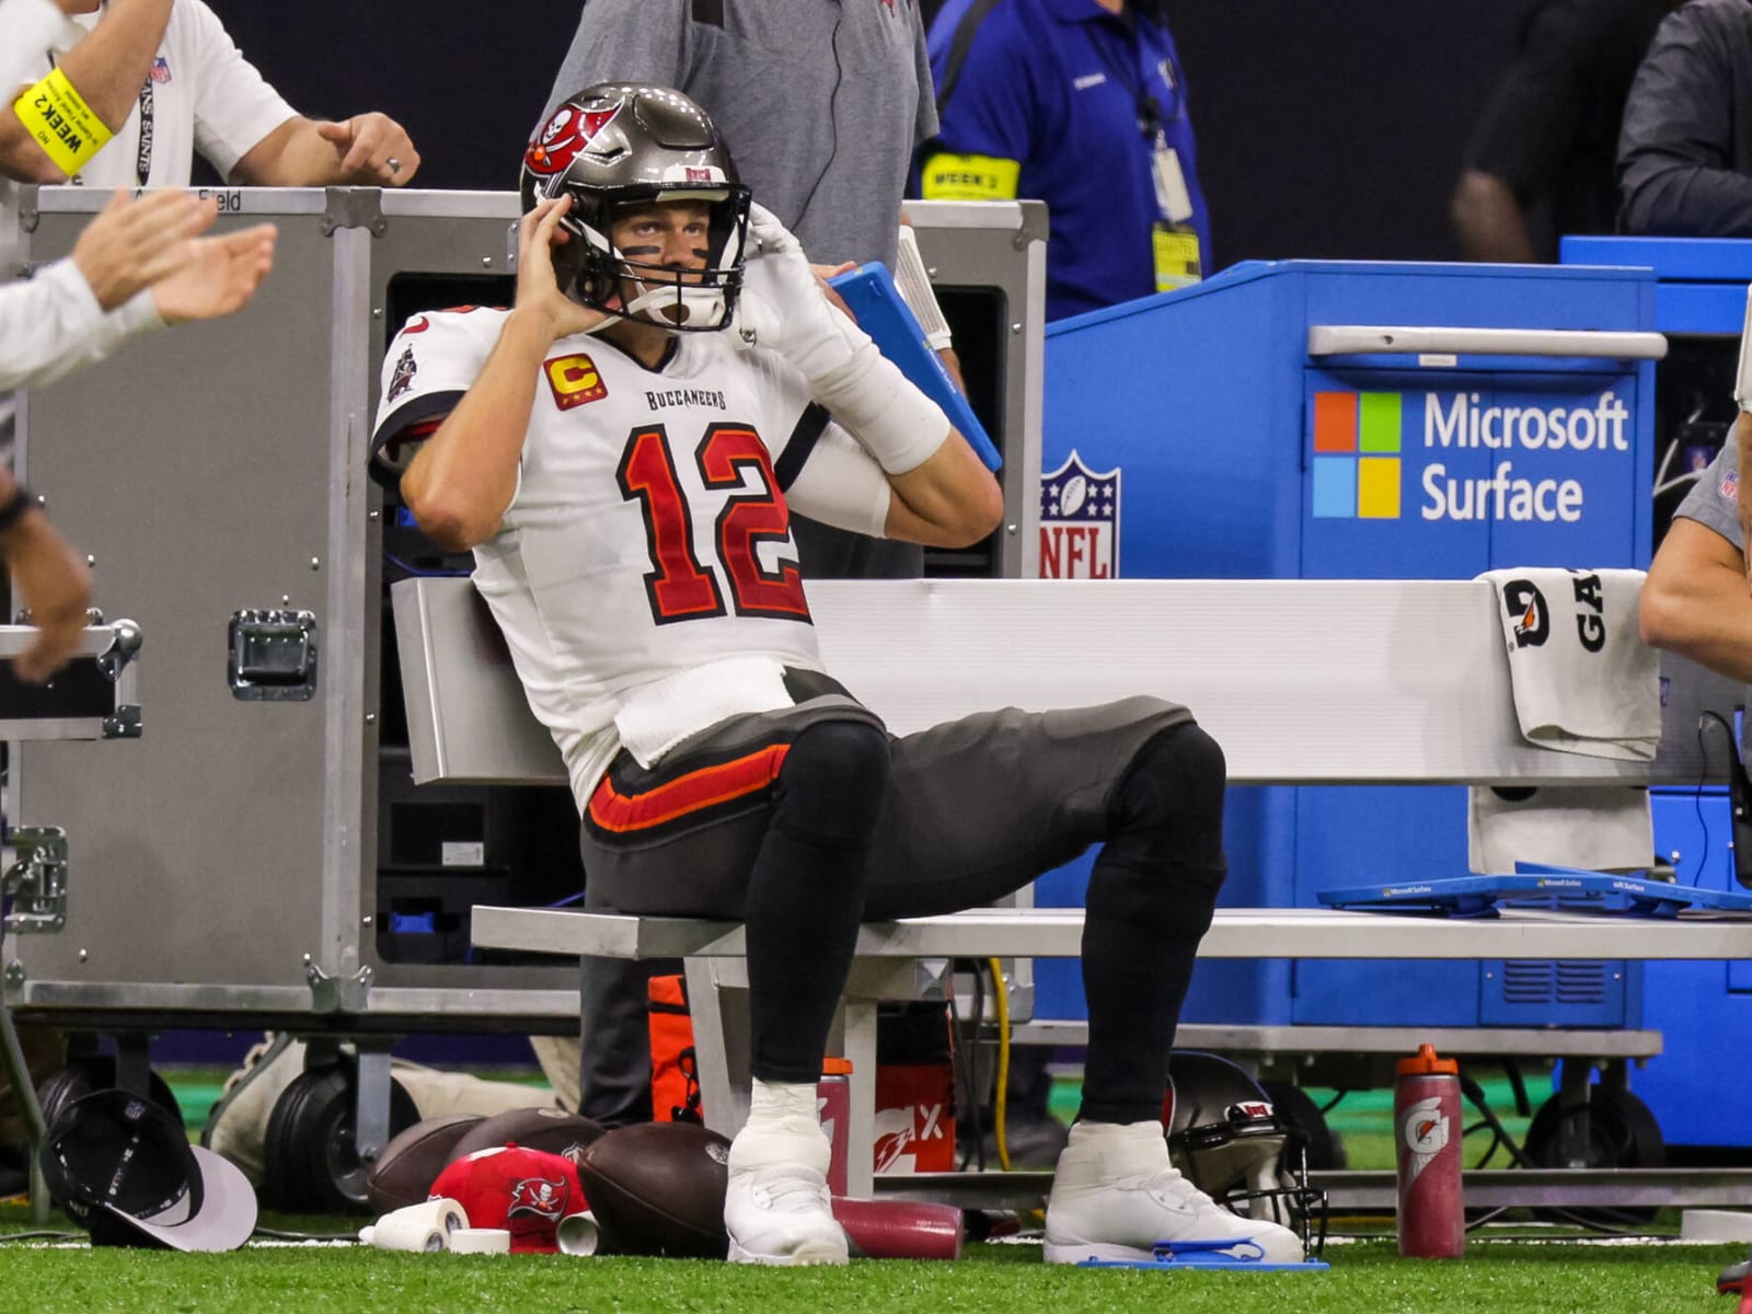
[[[1151,1260],[1158,1242],[1216,1244],[1261,1263],[1305,1258],[1289,1228],[1240,1218],[1186,1181],[1160,1125],[1072,1127],[1046,1202],[1046,1261]]]

